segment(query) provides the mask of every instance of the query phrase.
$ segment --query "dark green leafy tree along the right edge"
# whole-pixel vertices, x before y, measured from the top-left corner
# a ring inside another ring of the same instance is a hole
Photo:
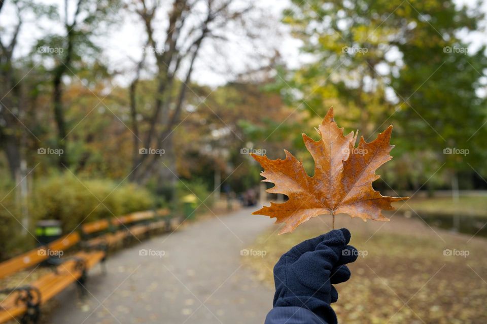
[[[403,64],[392,78],[399,98],[392,118],[403,125],[402,149],[410,156],[422,156],[412,161],[412,168],[424,170],[421,183],[438,171],[444,177],[440,185],[450,185],[456,195],[459,186],[471,188],[474,177],[487,171],[482,163],[487,158],[483,149],[487,101],[481,94],[486,51],[459,34],[482,30],[484,14],[450,1],[411,6],[418,12],[410,12],[409,23],[395,41]],[[459,174],[464,175],[460,184]]]

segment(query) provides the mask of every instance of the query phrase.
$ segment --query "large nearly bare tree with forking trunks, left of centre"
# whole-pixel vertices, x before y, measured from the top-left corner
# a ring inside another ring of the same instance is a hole
[[[245,30],[246,15],[252,6],[239,6],[232,0],[204,0],[189,2],[175,0],[169,7],[147,0],[127,5],[143,22],[146,32],[145,55],[136,64],[135,77],[130,85],[131,128],[133,132],[133,181],[144,183],[158,174],[168,183],[175,181],[173,130],[181,122],[181,113],[195,62],[205,42],[224,42],[229,27]],[[165,15],[165,26],[158,23]],[[224,44],[224,43],[223,43]],[[222,46],[222,45],[218,45]],[[154,59],[156,88],[149,108],[142,107],[137,97],[141,89],[140,71]],[[200,103],[205,105],[204,99]],[[139,154],[140,148],[164,150],[163,164],[156,155]]]

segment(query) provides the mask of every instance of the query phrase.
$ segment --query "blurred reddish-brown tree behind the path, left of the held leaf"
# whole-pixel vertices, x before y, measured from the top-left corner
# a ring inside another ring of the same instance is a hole
[[[190,114],[186,112],[185,122],[175,130],[175,143],[180,148],[175,152],[179,176],[199,177],[210,189],[217,190],[222,190],[220,179],[228,185],[225,187],[237,192],[259,183],[255,176],[258,167],[250,150],[280,154],[286,142],[278,138],[281,133],[276,132],[272,141],[264,142],[260,132],[269,128],[269,121],[285,119],[290,113],[279,94],[264,90],[270,82],[240,80],[216,89],[194,88],[198,96],[188,95],[188,105],[197,105],[199,96],[211,93],[207,104],[212,110],[198,107]]]

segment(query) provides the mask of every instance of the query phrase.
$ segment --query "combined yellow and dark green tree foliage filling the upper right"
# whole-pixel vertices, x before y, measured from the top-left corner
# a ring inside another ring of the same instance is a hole
[[[487,103],[479,91],[487,58],[484,47],[473,52],[459,38],[479,29],[481,10],[452,0],[293,0],[284,16],[313,58],[283,77],[284,96],[310,119],[335,105],[345,129],[360,129],[365,139],[394,124],[398,148],[384,170],[387,184],[449,186],[458,172],[486,174]]]

